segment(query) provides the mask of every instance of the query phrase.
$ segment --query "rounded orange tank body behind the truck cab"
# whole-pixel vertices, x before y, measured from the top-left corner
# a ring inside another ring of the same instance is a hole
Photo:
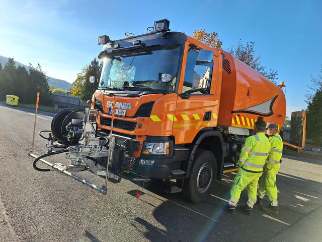
[[[268,123],[284,123],[285,95],[281,87],[262,74],[233,57],[220,51],[222,60],[222,84],[218,125],[254,129],[257,119]]]

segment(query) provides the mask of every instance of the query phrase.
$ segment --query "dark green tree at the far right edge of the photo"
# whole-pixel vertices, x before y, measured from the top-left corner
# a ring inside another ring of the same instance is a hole
[[[322,142],[322,65],[320,74],[311,77],[312,85],[308,86],[306,109],[306,135],[313,142]]]

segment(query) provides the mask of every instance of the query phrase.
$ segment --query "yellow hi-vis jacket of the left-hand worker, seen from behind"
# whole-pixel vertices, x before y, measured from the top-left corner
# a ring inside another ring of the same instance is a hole
[[[241,148],[238,166],[246,171],[262,172],[270,150],[271,143],[264,133],[252,135]]]

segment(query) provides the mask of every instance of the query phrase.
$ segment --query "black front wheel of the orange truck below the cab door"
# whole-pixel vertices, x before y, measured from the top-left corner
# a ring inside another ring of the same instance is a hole
[[[202,203],[209,198],[217,175],[217,162],[209,150],[198,149],[190,177],[184,181],[185,198],[192,203]]]

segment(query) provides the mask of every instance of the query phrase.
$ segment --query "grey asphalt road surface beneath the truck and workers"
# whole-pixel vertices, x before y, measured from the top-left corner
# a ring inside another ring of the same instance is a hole
[[[241,209],[224,211],[234,173],[216,183],[200,205],[167,194],[162,186],[134,197],[137,184],[108,184],[108,195],[56,171],[39,172],[27,156],[34,115],[0,105],[0,241],[321,241],[322,159],[284,154],[277,176],[280,214],[255,206],[252,217]],[[37,133],[48,130],[52,117],[37,118]],[[46,152],[36,136],[34,152]],[[48,158],[64,162],[63,155]],[[45,167],[45,166],[44,166]],[[78,173],[96,185],[104,179]],[[268,201],[266,202],[268,205]]]

